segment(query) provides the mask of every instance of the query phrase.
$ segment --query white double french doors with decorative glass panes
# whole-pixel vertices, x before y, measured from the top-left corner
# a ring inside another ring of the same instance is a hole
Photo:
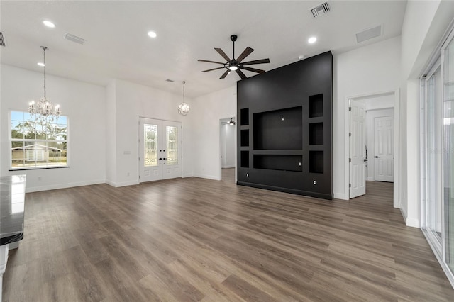
[[[139,181],[182,177],[180,122],[139,120]]]

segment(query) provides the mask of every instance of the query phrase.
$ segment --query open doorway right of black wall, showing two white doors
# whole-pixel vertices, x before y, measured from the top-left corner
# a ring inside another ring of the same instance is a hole
[[[387,189],[397,204],[398,91],[348,98],[348,198]],[[396,110],[397,106],[397,110]],[[369,186],[369,188],[366,188]]]

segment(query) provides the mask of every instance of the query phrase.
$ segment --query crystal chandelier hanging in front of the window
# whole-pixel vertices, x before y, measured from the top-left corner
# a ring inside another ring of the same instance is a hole
[[[60,116],[60,105],[52,104],[45,96],[45,51],[48,47],[41,46],[44,52],[44,96],[35,104],[35,101],[28,103],[28,112],[31,113],[31,120],[41,125],[58,120]]]

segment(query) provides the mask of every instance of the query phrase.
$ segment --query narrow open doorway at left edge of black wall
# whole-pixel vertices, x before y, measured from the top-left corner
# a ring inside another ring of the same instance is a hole
[[[235,182],[236,118],[220,120],[221,180]]]

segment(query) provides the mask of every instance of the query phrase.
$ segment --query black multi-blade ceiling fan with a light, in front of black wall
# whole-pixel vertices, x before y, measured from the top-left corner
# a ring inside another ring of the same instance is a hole
[[[258,74],[262,74],[265,72],[265,70],[262,69],[255,69],[251,67],[247,67],[246,65],[255,65],[255,64],[263,64],[263,63],[269,63],[270,59],[262,59],[262,60],[253,60],[253,61],[248,61],[248,62],[242,62],[248,55],[251,54],[254,50],[250,47],[246,47],[246,49],[241,53],[239,57],[235,59],[235,41],[238,38],[237,35],[231,35],[230,40],[233,42],[233,59],[230,59],[228,55],[226,55],[226,52],[223,52],[221,48],[214,48],[219,55],[221,55],[224,59],[227,60],[227,62],[216,62],[216,61],[210,61],[210,60],[199,60],[199,62],[209,62],[209,63],[216,63],[216,64],[221,64],[223,67],[217,67],[213,69],[207,69],[202,72],[211,72],[212,70],[217,70],[217,69],[223,69],[226,68],[226,72],[224,72],[219,79],[223,79],[227,77],[227,74],[229,74],[231,71],[236,71],[236,73],[240,76],[241,79],[247,79],[246,75],[240,70],[248,70],[250,72],[257,72]]]

